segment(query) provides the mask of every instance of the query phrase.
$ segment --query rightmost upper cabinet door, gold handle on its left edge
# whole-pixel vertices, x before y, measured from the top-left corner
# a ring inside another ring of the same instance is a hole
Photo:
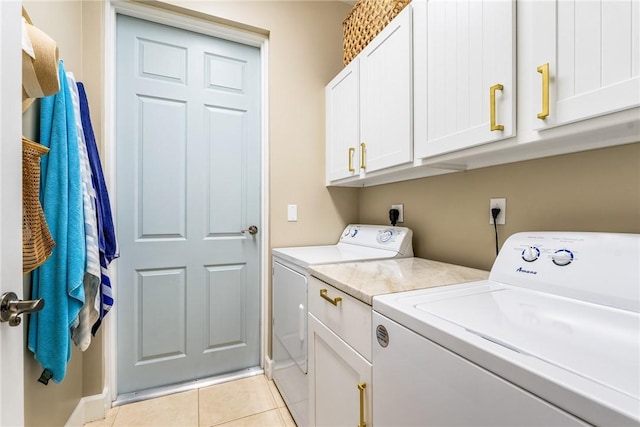
[[[534,2],[531,19],[534,128],[640,105],[639,0]]]

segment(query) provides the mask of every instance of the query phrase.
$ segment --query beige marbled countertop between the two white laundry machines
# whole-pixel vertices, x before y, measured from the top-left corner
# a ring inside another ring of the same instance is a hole
[[[323,264],[312,276],[372,305],[376,295],[486,280],[489,272],[422,258]]]

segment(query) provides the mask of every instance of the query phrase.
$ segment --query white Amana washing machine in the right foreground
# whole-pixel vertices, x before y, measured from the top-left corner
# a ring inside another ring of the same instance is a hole
[[[640,425],[640,235],[518,233],[488,280],[373,309],[378,427]]]

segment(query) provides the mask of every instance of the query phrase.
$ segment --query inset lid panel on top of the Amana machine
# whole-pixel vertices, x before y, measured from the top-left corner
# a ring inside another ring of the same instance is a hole
[[[415,310],[640,398],[640,317],[632,311],[487,283],[435,292]]]

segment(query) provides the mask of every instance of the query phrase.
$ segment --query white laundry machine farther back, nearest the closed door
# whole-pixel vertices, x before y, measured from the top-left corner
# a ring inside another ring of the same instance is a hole
[[[308,425],[308,267],[412,257],[412,238],[405,227],[352,224],[335,245],[273,249],[273,380],[297,425]]]

